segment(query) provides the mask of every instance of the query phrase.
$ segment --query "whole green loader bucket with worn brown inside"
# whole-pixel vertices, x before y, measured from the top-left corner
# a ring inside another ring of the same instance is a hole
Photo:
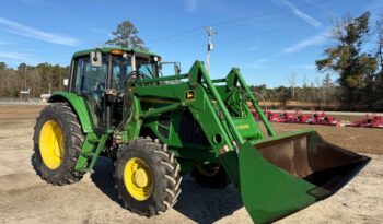
[[[269,223],[325,199],[370,161],[324,141],[314,130],[240,145],[243,203],[255,223]]]

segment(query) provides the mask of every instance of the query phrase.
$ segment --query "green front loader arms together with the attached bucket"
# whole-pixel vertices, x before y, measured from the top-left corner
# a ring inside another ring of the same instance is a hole
[[[175,79],[187,82],[154,84]],[[218,89],[214,85],[218,82],[225,86]],[[136,84],[138,97],[173,102],[148,110],[148,116],[182,108],[192,113],[256,223],[272,222],[332,196],[370,160],[328,144],[313,130],[277,135],[235,68],[225,79],[212,81],[204,64],[196,61],[188,74],[141,80]],[[237,90],[251,101],[269,138],[264,138],[253,117],[246,117],[248,108],[242,117],[232,117],[223,92]],[[247,134],[242,128],[248,129]]]

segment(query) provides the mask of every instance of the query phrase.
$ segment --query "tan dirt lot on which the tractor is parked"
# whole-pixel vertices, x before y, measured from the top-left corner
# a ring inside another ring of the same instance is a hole
[[[251,223],[237,191],[211,190],[188,176],[174,209],[151,219],[121,209],[112,164],[101,160],[79,184],[54,187],[36,176],[32,135],[40,106],[0,105],[0,223]],[[274,123],[277,132],[311,128]],[[334,197],[279,223],[383,223],[383,130],[315,127],[340,146],[368,153],[371,163]]]

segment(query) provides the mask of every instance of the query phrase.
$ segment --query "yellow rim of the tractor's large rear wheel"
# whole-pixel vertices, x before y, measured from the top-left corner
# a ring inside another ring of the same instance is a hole
[[[56,169],[62,164],[65,139],[60,126],[53,120],[44,123],[39,133],[39,152],[44,164]]]

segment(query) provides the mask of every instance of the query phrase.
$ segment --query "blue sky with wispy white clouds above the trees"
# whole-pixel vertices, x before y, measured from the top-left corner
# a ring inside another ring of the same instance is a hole
[[[211,76],[239,67],[249,84],[289,85],[322,80],[315,60],[330,45],[332,21],[349,13],[383,13],[381,0],[12,0],[0,8],[0,61],[69,64],[74,51],[100,47],[124,20],[140,31],[151,51],[179,61],[186,72],[206,59],[213,36]],[[373,36],[371,37],[373,38]],[[371,48],[371,46],[370,46]],[[367,47],[369,50],[369,47]],[[336,75],[333,75],[333,80]]]

